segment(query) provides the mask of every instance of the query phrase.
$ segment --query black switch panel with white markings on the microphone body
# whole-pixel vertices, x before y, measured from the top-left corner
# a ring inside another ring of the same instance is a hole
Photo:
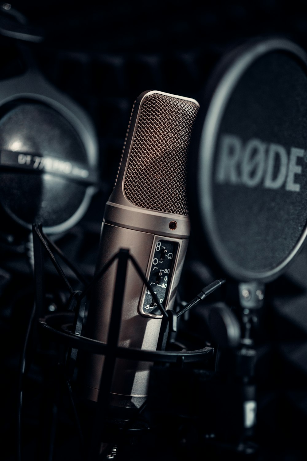
[[[147,279],[163,307],[166,306],[178,248],[178,242],[161,239],[156,241],[154,252],[152,253],[151,267]],[[143,300],[140,313],[146,317],[161,318],[162,312],[159,309],[159,305],[156,303],[151,291],[148,290],[147,287]]]

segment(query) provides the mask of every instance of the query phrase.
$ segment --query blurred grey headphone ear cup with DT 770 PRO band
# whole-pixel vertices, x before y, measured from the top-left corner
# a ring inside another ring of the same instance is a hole
[[[27,56],[26,56],[27,59]],[[4,232],[74,226],[98,190],[93,121],[36,66],[0,81],[0,214]]]

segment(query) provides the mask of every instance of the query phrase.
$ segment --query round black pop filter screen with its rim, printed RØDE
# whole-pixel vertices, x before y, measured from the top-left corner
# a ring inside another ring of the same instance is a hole
[[[306,236],[305,52],[287,40],[253,43],[220,63],[207,88],[192,146],[191,222],[231,277],[269,281]]]

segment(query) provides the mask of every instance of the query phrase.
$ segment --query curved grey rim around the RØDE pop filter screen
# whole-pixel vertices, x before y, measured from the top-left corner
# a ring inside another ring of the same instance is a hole
[[[205,250],[211,254],[214,266],[223,270],[226,276],[236,281],[270,282],[277,278],[293,258],[303,248],[307,236],[307,223],[300,238],[290,253],[275,267],[263,271],[243,269],[233,261],[219,237],[215,213],[213,210],[213,166],[214,151],[220,123],[224,116],[227,103],[232,96],[240,78],[249,66],[267,53],[284,52],[292,55],[307,73],[307,53],[299,45],[284,37],[272,37],[251,40],[227,53],[220,61],[206,85],[203,104],[196,120],[196,136],[191,142],[190,166],[190,218],[192,229],[202,241]],[[201,102],[201,98],[199,98]],[[200,152],[203,154],[200,155]],[[199,198],[202,197],[200,200]],[[195,213],[195,214],[194,214]],[[204,242],[204,238],[206,242]]]

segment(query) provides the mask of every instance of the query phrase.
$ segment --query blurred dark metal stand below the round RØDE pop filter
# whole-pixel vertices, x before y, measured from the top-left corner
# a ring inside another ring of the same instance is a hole
[[[219,445],[226,451],[235,451],[240,459],[254,459],[258,449],[255,442],[257,353],[254,332],[264,302],[264,291],[264,284],[256,281],[235,285],[241,337],[237,347],[221,349],[217,360],[217,372],[221,372],[226,384],[226,395],[222,396],[222,391],[217,396],[222,425],[226,428],[221,437],[226,444]]]

